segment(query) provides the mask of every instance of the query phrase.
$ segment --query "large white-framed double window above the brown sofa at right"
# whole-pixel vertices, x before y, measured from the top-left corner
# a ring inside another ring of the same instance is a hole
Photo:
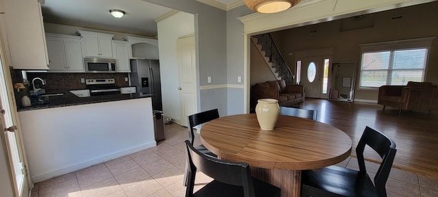
[[[406,85],[424,81],[428,49],[433,38],[363,44],[360,88]]]

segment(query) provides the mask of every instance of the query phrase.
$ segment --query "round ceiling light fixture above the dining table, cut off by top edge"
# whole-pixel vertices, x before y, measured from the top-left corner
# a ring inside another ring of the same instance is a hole
[[[275,13],[292,8],[301,0],[245,0],[246,6],[255,12]]]

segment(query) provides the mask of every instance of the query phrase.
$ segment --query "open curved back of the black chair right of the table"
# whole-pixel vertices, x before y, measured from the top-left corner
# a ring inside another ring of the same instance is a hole
[[[381,166],[378,168],[376,176],[374,176],[374,185],[377,196],[386,196],[385,184],[391,171],[392,162],[396,156],[396,143],[387,135],[366,127],[356,148],[357,161],[359,162],[361,172],[366,172],[365,161],[363,159],[365,145],[374,149],[382,158]]]

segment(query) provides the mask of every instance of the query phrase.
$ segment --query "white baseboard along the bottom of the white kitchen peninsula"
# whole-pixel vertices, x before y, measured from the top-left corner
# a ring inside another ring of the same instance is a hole
[[[126,150],[121,150],[121,151],[118,151],[116,153],[112,153],[110,155],[105,155],[103,157],[99,157],[99,158],[96,158],[96,159],[92,159],[92,160],[88,160],[88,161],[83,161],[81,163],[75,163],[73,165],[66,166],[65,168],[62,168],[62,169],[53,170],[51,172],[47,172],[47,173],[44,173],[44,174],[38,174],[38,175],[35,175],[35,176],[31,176],[31,179],[32,179],[32,182],[34,182],[34,183],[38,183],[38,182],[41,182],[41,181],[46,181],[46,180],[52,179],[53,177],[56,177],[56,176],[61,176],[61,175],[64,175],[64,174],[68,174],[70,172],[75,172],[76,170],[81,170],[83,168],[88,168],[90,166],[93,166],[93,165],[96,165],[96,164],[99,164],[99,163],[103,163],[105,161],[110,161],[111,159],[116,159],[118,157],[123,157],[125,155],[129,155],[131,153],[136,153],[136,152],[138,152],[140,150],[144,150],[144,149],[147,149],[147,148],[152,148],[152,147],[155,147],[155,146],[157,146],[157,142],[155,142],[155,141],[149,142],[149,143],[142,144],[140,146],[136,146],[136,147],[133,147],[133,148],[129,148],[129,149],[126,149]]]

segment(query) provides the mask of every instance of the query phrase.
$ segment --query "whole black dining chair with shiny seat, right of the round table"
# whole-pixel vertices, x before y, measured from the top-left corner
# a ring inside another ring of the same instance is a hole
[[[365,168],[363,159],[365,145],[374,149],[382,158],[382,163],[374,176],[374,184]],[[396,144],[391,138],[366,127],[356,148],[359,171],[339,166],[303,170],[301,196],[386,196],[385,185],[396,151]]]

